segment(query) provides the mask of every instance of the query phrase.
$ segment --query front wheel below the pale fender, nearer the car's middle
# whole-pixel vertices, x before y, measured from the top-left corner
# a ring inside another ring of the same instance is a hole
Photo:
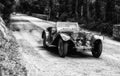
[[[65,57],[68,53],[68,43],[64,42],[62,39],[59,39],[58,42],[58,53],[60,57]]]

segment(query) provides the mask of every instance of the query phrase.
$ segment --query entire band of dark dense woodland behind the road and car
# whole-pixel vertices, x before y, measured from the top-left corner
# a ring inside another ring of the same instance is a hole
[[[109,34],[112,25],[120,23],[119,0],[1,0],[0,6],[4,19],[13,11],[46,14],[49,20],[77,21]]]

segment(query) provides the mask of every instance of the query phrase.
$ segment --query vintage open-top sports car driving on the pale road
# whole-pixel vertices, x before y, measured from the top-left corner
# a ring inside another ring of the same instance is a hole
[[[57,22],[56,26],[43,30],[42,38],[43,46],[57,47],[60,57],[71,51],[90,50],[96,58],[102,53],[103,37],[82,30],[76,22]]]

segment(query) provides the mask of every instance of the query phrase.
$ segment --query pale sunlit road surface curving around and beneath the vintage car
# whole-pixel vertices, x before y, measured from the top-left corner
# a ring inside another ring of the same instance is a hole
[[[120,76],[120,42],[104,38],[99,59],[91,52],[60,58],[55,49],[42,46],[41,32],[54,22],[17,14],[12,16],[11,29],[19,44],[28,76]]]

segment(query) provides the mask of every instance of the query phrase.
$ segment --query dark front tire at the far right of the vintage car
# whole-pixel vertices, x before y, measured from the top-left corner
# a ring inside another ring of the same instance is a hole
[[[92,49],[92,55],[95,58],[99,58],[102,53],[102,42],[101,41],[95,41],[94,47]]]

